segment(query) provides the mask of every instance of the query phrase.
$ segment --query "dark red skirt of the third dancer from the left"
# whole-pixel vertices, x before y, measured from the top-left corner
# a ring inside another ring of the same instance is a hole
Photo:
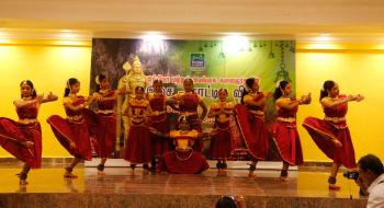
[[[116,117],[114,114],[98,114],[98,125],[94,134],[94,150],[100,158],[111,158],[116,140]]]

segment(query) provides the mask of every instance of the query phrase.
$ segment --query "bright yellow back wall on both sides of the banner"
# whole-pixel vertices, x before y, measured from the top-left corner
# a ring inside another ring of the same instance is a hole
[[[76,77],[81,82],[80,94],[89,91],[91,44],[71,46],[44,42],[26,42],[13,45],[0,43],[0,116],[16,118],[12,101],[20,95],[19,83],[31,79],[39,93],[53,91],[63,96],[66,80]],[[365,48],[363,48],[365,47]],[[301,106],[298,124],[306,116],[323,117],[318,103],[323,82],[332,79],[340,84],[342,93],[361,93],[365,100],[350,103],[348,124],[351,130],[357,159],[374,153],[384,160],[384,50],[373,46],[348,46],[348,48],[315,47],[300,44],[296,56],[297,94],[312,92],[313,103]],[[321,49],[323,48],[323,49]],[[324,49],[328,48],[328,49]],[[363,49],[361,49],[363,48]],[[61,101],[44,104],[39,112],[43,129],[43,157],[69,157],[55,139],[45,119],[52,114],[64,115]],[[315,146],[305,129],[298,125],[304,159],[329,161]],[[9,154],[0,149],[0,157]]]

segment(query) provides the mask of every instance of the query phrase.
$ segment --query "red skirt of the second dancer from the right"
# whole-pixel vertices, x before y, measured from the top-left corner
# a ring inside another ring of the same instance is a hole
[[[303,164],[302,143],[296,124],[276,122],[272,125],[272,138],[280,157],[291,165]]]

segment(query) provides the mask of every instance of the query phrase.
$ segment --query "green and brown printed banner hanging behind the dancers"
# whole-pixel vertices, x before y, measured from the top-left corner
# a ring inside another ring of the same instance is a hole
[[[290,80],[295,90],[294,41],[171,41],[151,43],[145,39],[93,39],[91,80],[99,73],[111,78],[113,88],[126,74],[123,65],[138,56],[142,69],[151,82],[161,79],[167,95],[182,90],[185,78],[192,78],[195,91],[206,103],[216,99],[221,88],[229,100],[239,102],[245,79],[257,77],[261,91],[273,91],[280,80]],[[91,91],[95,83],[91,82]]]

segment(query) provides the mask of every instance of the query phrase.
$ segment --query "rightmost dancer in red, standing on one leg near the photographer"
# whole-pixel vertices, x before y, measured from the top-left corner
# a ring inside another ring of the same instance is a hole
[[[334,160],[330,176],[328,178],[329,189],[338,190],[336,176],[342,164],[348,169],[355,169],[354,149],[346,122],[348,103],[364,100],[361,94],[340,95],[339,85],[328,80],[324,82],[320,91],[320,103],[325,114],[324,119],[307,117],[303,126],[314,139],[316,146],[331,160]]]

